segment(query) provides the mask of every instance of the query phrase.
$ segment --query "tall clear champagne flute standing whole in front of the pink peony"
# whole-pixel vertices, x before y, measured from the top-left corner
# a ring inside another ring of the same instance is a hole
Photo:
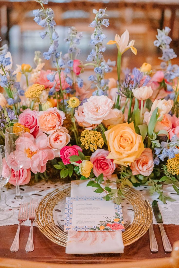
[[[9,155],[10,167],[14,170],[16,178],[16,195],[7,196],[6,204],[10,207],[19,207],[20,200],[24,199],[19,189],[19,170],[23,168],[26,158],[25,134],[21,126],[6,128],[5,146]]]

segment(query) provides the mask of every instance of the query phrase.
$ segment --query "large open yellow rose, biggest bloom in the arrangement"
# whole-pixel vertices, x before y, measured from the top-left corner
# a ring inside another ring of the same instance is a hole
[[[114,159],[116,164],[130,165],[144,151],[142,136],[135,132],[133,122],[116,125],[104,133],[109,151],[107,158]]]

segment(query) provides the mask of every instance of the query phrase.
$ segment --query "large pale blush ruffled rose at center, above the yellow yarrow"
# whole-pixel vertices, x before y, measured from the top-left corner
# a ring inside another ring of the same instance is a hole
[[[101,124],[103,120],[117,117],[112,111],[114,101],[107,96],[91,96],[83,103],[85,121],[89,124]]]

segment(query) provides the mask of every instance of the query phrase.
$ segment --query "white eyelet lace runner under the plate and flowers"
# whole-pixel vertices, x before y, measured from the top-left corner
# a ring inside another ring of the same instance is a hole
[[[52,192],[54,189],[60,186],[61,186],[60,182],[53,184],[50,182],[41,181],[32,186],[26,185],[26,186],[20,186],[20,188],[21,188],[21,192],[28,193],[31,196],[31,198],[37,198],[40,201],[45,195],[47,195],[49,192]],[[153,200],[158,200],[157,199],[158,193],[149,195],[149,192],[148,192],[149,187],[147,186],[140,186],[135,189],[140,191],[140,193],[142,193],[145,196],[145,198],[149,200],[151,204]],[[176,194],[176,192],[174,191],[171,185],[164,185],[163,190],[164,190],[165,195],[168,195],[171,198],[176,200],[174,202],[167,201],[167,204],[163,204],[162,201],[158,200],[159,201],[158,205],[159,205],[160,212],[162,214],[163,223],[179,225],[179,196]],[[3,187],[2,191],[5,193],[6,196],[11,193],[14,193],[15,195],[15,187],[13,186],[12,186],[12,189],[7,189],[6,187]],[[5,200],[2,201],[2,205],[7,206],[5,204]],[[19,210],[17,208],[12,208],[12,207],[9,207],[9,209],[12,209],[14,211],[13,216],[4,221],[0,221],[0,226],[19,224],[17,220]],[[58,224],[61,224],[61,225],[63,225],[63,221],[64,221],[63,211],[64,211],[64,202],[61,202],[54,207],[54,212],[53,212],[54,221],[58,222]],[[132,222],[133,221],[133,208],[127,201],[124,201],[122,203],[122,211],[123,211],[124,222],[127,222],[127,221]],[[156,224],[155,217],[153,217],[153,223]],[[30,226],[30,221],[27,220],[22,225]]]

